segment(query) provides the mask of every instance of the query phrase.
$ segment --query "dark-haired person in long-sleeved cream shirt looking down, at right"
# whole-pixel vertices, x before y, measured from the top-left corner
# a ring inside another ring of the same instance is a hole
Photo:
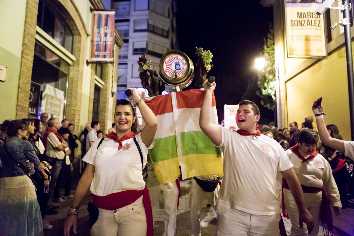
[[[308,211],[314,219],[314,229],[309,236],[316,236],[319,231],[320,218],[322,224],[327,225],[327,230],[332,231],[332,215],[326,214],[330,212],[330,205],[333,207],[335,215],[341,214],[341,200],[337,184],[332,175],[332,169],[329,162],[316,151],[318,142],[318,134],[312,129],[304,128],[299,133],[299,142],[286,151],[294,170],[301,183],[304,192],[305,202]],[[322,191],[322,188],[324,191]],[[300,229],[298,221],[298,209],[294,198],[284,181],[284,209],[290,217],[291,235],[307,236],[307,229]],[[322,200],[324,198],[324,200]],[[330,205],[326,204],[330,200]],[[329,209],[329,211],[326,211]],[[333,232],[332,232],[333,233]]]

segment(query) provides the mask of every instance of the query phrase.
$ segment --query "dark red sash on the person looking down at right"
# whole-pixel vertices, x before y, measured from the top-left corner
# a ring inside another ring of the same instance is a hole
[[[301,185],[301,188],[304,193],[308,193],[308,194],[315,194],[318,192],[322,192],[322,200],[321,200],[321,205],[320,205],[320,219],[321,219],[323,227],[327,231],[327,235],[330,235],[329,233],[333,234],[333,218],[332,218],[332,212],[331,212],[331,202],[327,198],[325,189],[323,187],[316,188],[316,187],[310,187],[310,186],[305,186],[305,185]],[[289,216],[288,216],[286,209],[285,209],[283,189],[290,190],[289,185],[287,184],[287,182],[284,178],[283,178],[283,186],[281,189],[282,212],[283,212],[283,217],[286,217],[289,219]]]

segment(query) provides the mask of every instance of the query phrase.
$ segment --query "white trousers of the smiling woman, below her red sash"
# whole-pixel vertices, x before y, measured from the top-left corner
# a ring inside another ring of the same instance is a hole
[[[146,216],[140,197],[131,205],[108,211],[98,208],[98,219],[91,227],[91,236],[145,236]]]

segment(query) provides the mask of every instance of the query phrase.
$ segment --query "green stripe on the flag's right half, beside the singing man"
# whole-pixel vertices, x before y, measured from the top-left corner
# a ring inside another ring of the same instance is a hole
[[[221,150],[214,146],[203,131],[183,132],[181,133],[181,140],[183,156],[190,154],[221,154]]]

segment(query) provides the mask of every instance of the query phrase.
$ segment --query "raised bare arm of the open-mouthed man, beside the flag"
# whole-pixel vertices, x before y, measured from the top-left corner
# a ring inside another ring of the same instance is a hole
[[[201,105],[200,109],[200,116],[199,116],[199,126],[201,130],[208,136],[215,145],[220,145],[222,142],[222,134],[221,128],[217,124],[211,123],[211,100],[213,91],[215,90],[216,83],[213,82],[211,86],[207,84],[208,80],[205,80],[203,83],[203,88],[205,90],[205,96],[203,100],[203,104]]]

